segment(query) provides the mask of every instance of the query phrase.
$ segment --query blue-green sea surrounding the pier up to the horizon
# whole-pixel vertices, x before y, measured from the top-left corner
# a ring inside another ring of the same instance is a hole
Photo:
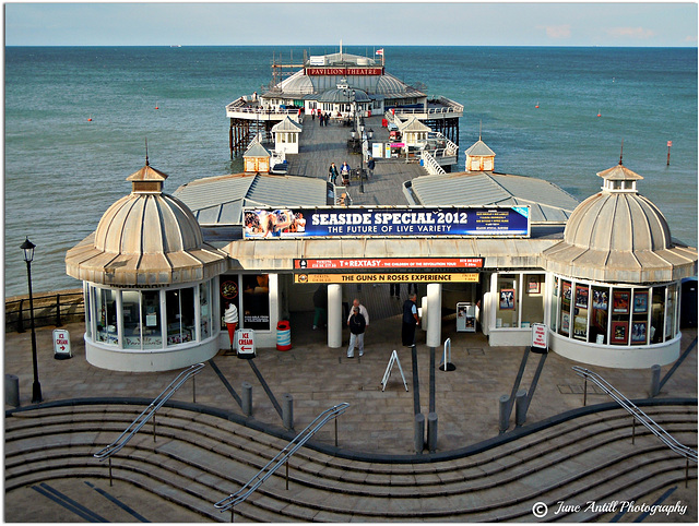
[[[386,69],[464,106],[458,170],[479,136],[498,172],[550,181],[582,201],[619,163],[674,238],[697,247],[697,48],[383,47]],[[374,48],[344,47],[371,57]],[[4,294],[81,287],[66,251],[128,194],[145,162],[164,190],[241,171],[226,104],[261,93],[273,60],[328,46],[5,47]],[[668,141],[672,141],[668,156]],[[454,170],[455,171],[455,170]]]

